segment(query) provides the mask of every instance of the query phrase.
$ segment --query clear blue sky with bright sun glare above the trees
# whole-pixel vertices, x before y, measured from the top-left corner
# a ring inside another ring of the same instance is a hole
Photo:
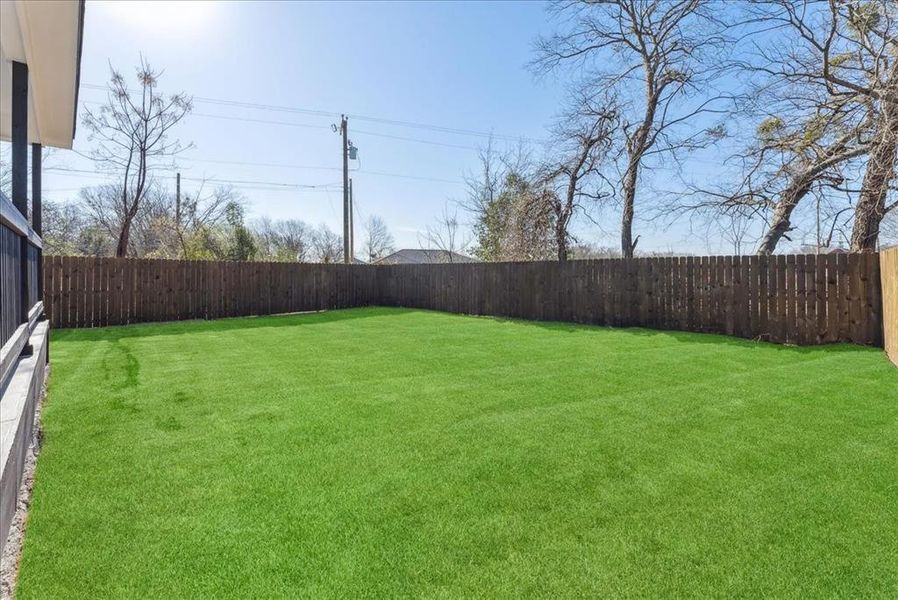
[[[238,186],[250,218],[297,218],[335,231],[341,157],[330,125],[338,117],[208,100],[348,113],[361,158],[352,174],[357,223],[380,215],[398,246],[418,247],[419,232],[464,196],[463,175],[476,169],[486,138],[370,118],[544,138],[563,82],[538,81],[525,66],[534,38],[550,30],[540,2],[89,2],[81,100],[101,101],[95,86],[108,80],[109,64],[131,76],[142,54],[164,70],[161,90],[195,97],[177,131],[195,144],[179,161],[184,188],[202,178],[278,184]],[[83,128],[75,148],[90,148]],[[65,152],[52,165],[92,169]],[[50,170],[44,181],[49,198],[69,201],[102,176]],[[617,211],[601,218],[601,228],[582,220],[578,236],[616,246]],[[709,249],[685,225],[641,223],[637,233],[644,250]]]

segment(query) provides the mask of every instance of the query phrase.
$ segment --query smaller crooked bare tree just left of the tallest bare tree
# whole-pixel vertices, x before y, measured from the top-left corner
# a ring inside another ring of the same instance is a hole
[[[555,248],[559,261],[568,259],[570,225],[583,200],[598,201],[611,194],[602,191],[602,176],[612,132],[617,122],[613,108],[591,108],[562,121],[557,128],[560,159],[545,168],[541,201],[549,206],[555,227]],[[630,244],[632,252],[636,242]]]

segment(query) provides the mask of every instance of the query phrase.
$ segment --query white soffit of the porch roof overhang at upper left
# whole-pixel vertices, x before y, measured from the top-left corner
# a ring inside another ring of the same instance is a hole
[[[81,0],[0,0],[0,140],[12,131],[12,61],[28,65],[28,142],[71,148],[75,135]]]

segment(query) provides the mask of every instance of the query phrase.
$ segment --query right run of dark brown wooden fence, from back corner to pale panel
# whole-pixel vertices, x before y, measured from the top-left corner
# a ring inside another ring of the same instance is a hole
[[[892,260],[898,263],[898,258]],[[875,285],[880,276],[877,254],[376,269],[374,297],[390,306],[723,333],[790,344],[883,343],[884,290]],[[898,330],[898,324],[892,328]],[[893,335],[898,345],[898,331]]]

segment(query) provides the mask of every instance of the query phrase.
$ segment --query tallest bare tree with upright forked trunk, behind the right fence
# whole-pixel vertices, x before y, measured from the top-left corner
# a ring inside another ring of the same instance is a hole
[[[714,139],[695,127],[723,112],[726,97],[708,93],[717,74],[711,58],[725,46],[719,5],[707,0],[565,0],[553,13],[563,31],[536,43],[537,72],[579,69],[578,94],[613,94],[622,109],[621,252],[633,256],[633,219],[640,171],[647,161],[674,159]],[[718,61],[719,63],[719,61]],[[693,127],[682,132],[686,125]]]

